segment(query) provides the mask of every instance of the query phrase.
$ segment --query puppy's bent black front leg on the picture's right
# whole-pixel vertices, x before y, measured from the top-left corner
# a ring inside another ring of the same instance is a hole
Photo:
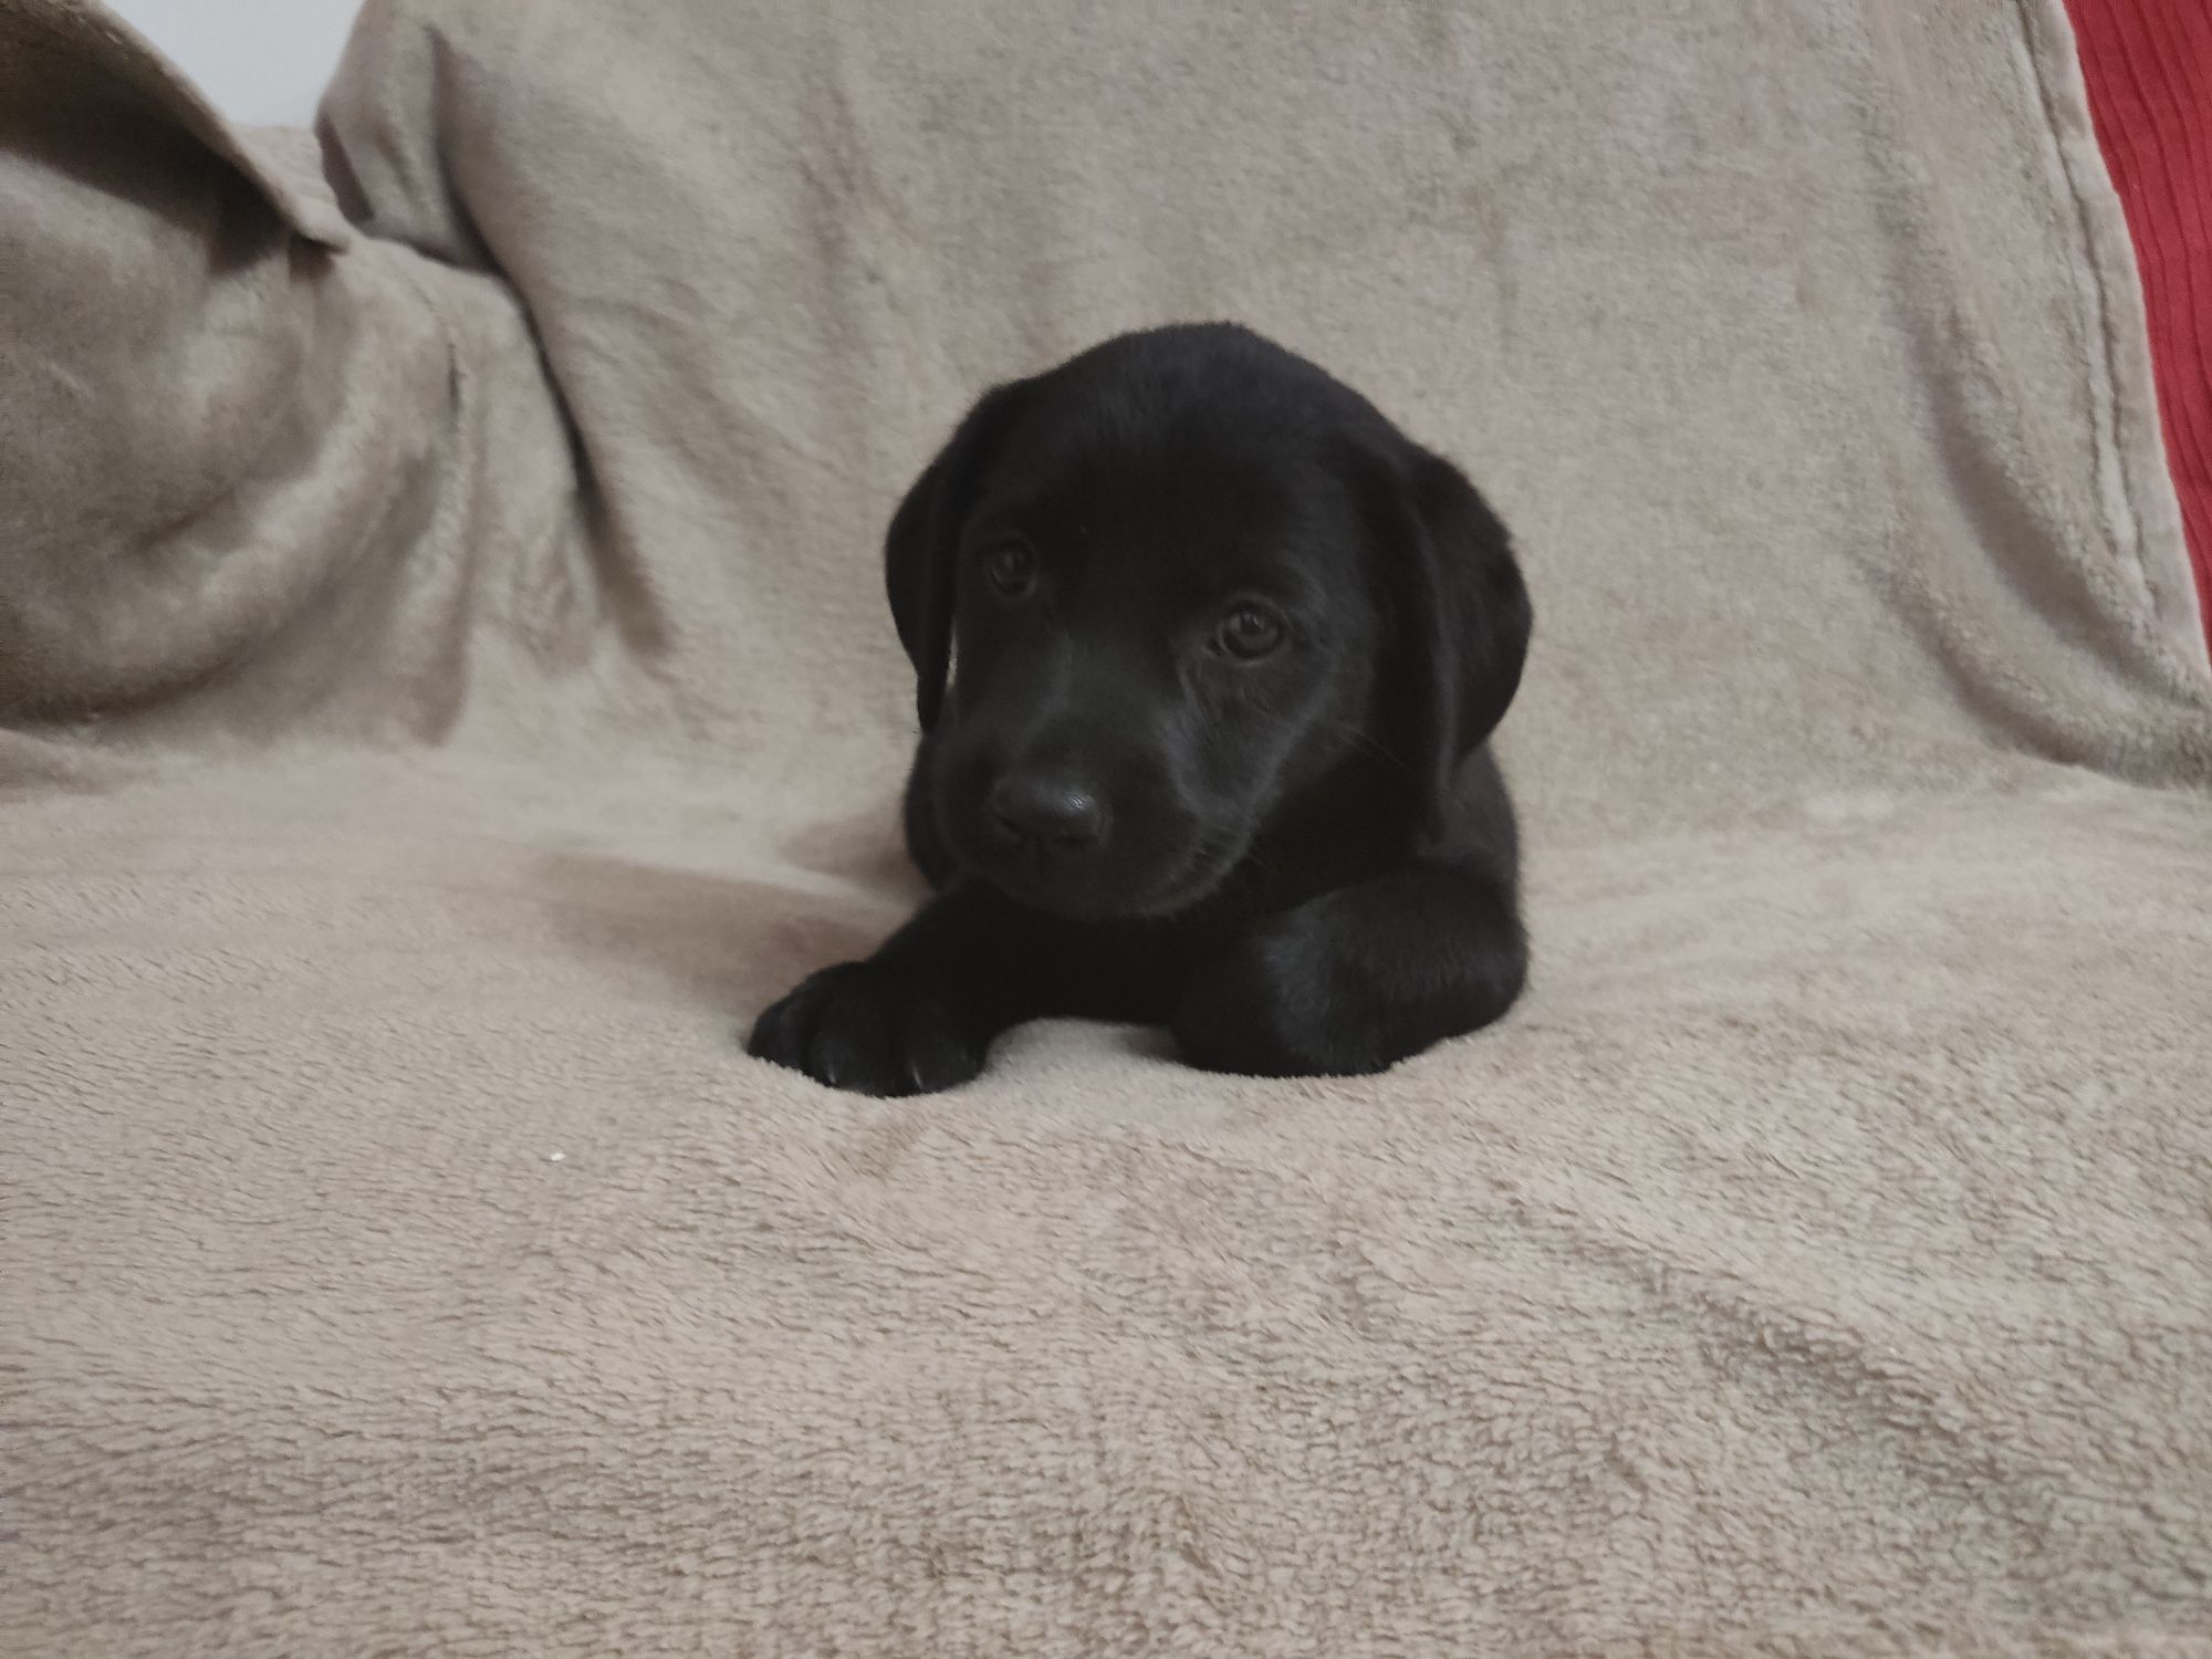
[[[1208,1071],[1371,1073],[1486,1026],[1526,971],[1509,880],[1411,865],[1263,920],[1192,978],[1175,1037]]]

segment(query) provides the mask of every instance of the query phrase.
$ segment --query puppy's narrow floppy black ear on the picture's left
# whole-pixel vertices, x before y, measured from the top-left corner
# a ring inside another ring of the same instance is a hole
[[[953,657],[960,526],[1004,436],[1018,389],[1020,383],[984,392],[907,489],[883,538],[883,586],[898,644],[914,664],[914,710],[925,732],[938,723]]]

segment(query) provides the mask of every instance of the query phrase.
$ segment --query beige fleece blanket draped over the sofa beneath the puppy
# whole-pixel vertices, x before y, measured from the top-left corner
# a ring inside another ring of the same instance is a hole
[[[2057,0],[0,0],[0,1652],[2212,1650],[2212,668]],[[1237,316],[1540,637],[1365,1082],[737,1033],[902,484]]]

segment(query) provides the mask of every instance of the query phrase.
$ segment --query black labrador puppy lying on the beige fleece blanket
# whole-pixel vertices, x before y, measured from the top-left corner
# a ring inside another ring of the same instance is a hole
[[[1528,593],[1467,478],[1363,396],[1243,327],[1106,341],[975,405],[885,566],[938,894],[754,1055],[914,1095],[1082,1015],[1214,1071],[1369,1073],[1511,1006],[1486,739]]]

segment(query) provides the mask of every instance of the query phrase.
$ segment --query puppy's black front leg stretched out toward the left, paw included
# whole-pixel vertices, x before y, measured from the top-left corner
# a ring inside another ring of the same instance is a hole
[[[865,962],[825,967],[763,1013],[745,1048],[856,1095],[929,1095],[982,1071],[1037,1013],[1037,940],[973,883],[931,898]]]

